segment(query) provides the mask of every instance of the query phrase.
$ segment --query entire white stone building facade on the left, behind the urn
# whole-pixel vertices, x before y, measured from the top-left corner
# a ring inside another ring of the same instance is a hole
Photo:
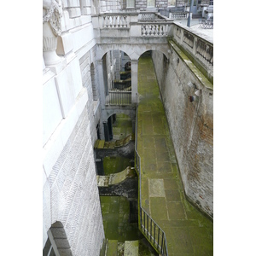
[[[93,145],[101,113],[90,74],[91,63],[96,70],[91,3],[63,3],[61,61],[45,66],[43,60],[43,247],[51,224],[60,221],[73,255],[99,255],[104,230]]]

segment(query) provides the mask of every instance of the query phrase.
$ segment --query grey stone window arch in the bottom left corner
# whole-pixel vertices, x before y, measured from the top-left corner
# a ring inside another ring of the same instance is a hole
[[[69,242],[67,241],[66,231],[61,221],[56,221],[52,224],[47,232],[48,239],[44,245],[43,256],[72,256]]]

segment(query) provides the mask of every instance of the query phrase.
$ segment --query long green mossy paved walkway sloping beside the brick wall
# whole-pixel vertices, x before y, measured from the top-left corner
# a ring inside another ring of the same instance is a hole
[[[213,224],[185,199],[151,57],[138,63],[137,151],[142,205],[166,233],[168,255],[213,255]]]

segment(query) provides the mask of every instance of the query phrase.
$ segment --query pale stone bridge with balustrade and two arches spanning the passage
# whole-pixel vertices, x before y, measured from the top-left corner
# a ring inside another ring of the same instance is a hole
[[[125,52],[131,60],[131,104],[137,102],[137,62],[148,50],[158,50],[168,59],[168,40],[172,20],[155,13],[108,13],[93,15],[92,23],[97,44],[99,73],[102,73],[102,59],[112,50]],[[106,92],[102,95],[106,95]],[[104,105],[108,100],[102,97]]]

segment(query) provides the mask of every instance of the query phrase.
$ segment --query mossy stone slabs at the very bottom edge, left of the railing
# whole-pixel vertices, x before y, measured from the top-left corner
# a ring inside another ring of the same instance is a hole
[[[102,247],[100,256],[156,256],[152,248],[147,247],[142,240],[119,242],[108,240]]]

